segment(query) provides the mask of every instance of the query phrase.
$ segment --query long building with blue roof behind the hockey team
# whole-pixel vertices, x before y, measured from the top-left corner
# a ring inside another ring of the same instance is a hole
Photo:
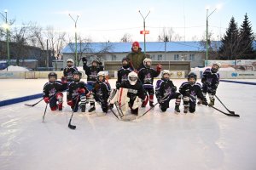
[[[74,47],[72,42],[61,50],[63,61],[74,59]],[[143,42],[140,47],[143,50]],[[93,59],[120,61],[131,52],[131,42],[84,42],[78,43],[77,49],[78,58],[86,57],[89,62]],[[146,49],[153,61],[191,61],[191,67],[204,66],[205,50],[200,42],[146,42]],[[65,66],[66,62],[63,62]]]

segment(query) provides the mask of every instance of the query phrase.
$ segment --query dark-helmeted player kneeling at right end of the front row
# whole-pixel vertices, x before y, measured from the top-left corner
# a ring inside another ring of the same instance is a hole
[[[184,113],[188,110],[190,113],[195,112],[196,98],[201,99],[202,105],[208,105],[207,99],[201,92],[201,84],[196,82],[196,74],[190,72],[188,75],[188,82],[183,82],[179,88],[180,94],[183,94]]]

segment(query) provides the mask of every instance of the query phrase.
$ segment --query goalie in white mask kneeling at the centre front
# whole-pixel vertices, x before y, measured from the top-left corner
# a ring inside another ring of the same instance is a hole
[[[138,114],[138,107],[145,100],[143,85],[137,82],[137,73],[132,71],[128,74],[128,81],[122,82],[120,88],[128,88],[127,97],[130,98],[128,103],[131,114]],[[138,98],[137,98],[138,97]]]

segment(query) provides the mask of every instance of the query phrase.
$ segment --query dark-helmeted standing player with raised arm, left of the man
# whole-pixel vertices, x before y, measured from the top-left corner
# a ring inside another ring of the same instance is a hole
[[[83,57],[82,60],[84,64],[83,69],[87,75],[87,88],[89,91],[91,91],[94,87],[94,84],[96,83],[98,72],[103,71],[104,67],[102,66],[102,62],[99,62],[98,60],[93,60],[91,62],[91,66],[87,65],[87,59],[85,57]],[[95,101],[93,99],[93,94],[90,94],[87,99],[90,102],[89,112],[95,111]]]

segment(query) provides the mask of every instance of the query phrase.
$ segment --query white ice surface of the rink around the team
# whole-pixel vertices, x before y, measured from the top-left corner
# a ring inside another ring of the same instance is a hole
[[[111,85],[115,81],[109,80]],[[177,88],[184,81],[173,80]],[[42,93],[45,82],[0,80],[0,99]],[[186,115],[181,106],[177,115],[172,101],[166,113],[157,105],[134,122],[121,122],[111,112],[107,116],[75,113],[72,124],[77,128],[71,130],[67,124],[72,111],[66,101],[63,111],[48,109],[45,122],[44,101],[34,107],[24,105],[39,99],[0,107],[0,169],[256,169],[256,86],[220,82],[217,95],[241,117],[225,116],[204,105]],[[218,100],[215,106],[225,111]],[[96,112],[102,111],[96,107]]]

